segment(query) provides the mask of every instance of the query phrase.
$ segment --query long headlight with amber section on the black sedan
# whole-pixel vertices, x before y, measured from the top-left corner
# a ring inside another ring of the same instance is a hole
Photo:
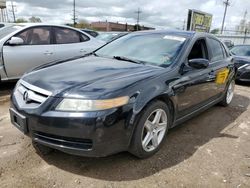
[[[115,108],[128,104],[129,97],[118,97],[114,99],[105,100],[85,100],[85,99],[63,99],[56,110],[59,111],[74,111],[74,112],[86,112],[86,111],[99,111],[110,108]]]

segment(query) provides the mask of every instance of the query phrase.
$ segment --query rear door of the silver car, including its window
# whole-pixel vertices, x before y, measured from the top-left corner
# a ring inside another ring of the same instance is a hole
[[[92,52],[98,46],[89,36],[65,27],[53,27],[55,56],[64,60]]]

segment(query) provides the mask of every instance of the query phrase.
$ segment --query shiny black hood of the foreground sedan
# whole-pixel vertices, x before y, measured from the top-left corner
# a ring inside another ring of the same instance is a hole
[[[35,70],[22,80],[53,96],[99,98],[163,71],[162,67],[88,56]]]

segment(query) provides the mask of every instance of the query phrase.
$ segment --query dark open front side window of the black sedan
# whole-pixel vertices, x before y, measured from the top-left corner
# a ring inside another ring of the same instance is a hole
[[[192,50],[188,55],[188,60],[198,59],[198,58],[203,58],[208,60],[207,46],[206,46],[206,41],[204,39],[197,40],[194,43]]]

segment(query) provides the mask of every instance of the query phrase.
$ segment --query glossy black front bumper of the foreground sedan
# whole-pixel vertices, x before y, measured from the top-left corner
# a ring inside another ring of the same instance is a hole
[[[126,121],[129,116],[126,107],[88,113],[38,113],[18,109],[15,100],[12,102],[11,111],[25,117],[26,135],[40,144],[88,157],[104,157],[128,150],[133,128]]]

